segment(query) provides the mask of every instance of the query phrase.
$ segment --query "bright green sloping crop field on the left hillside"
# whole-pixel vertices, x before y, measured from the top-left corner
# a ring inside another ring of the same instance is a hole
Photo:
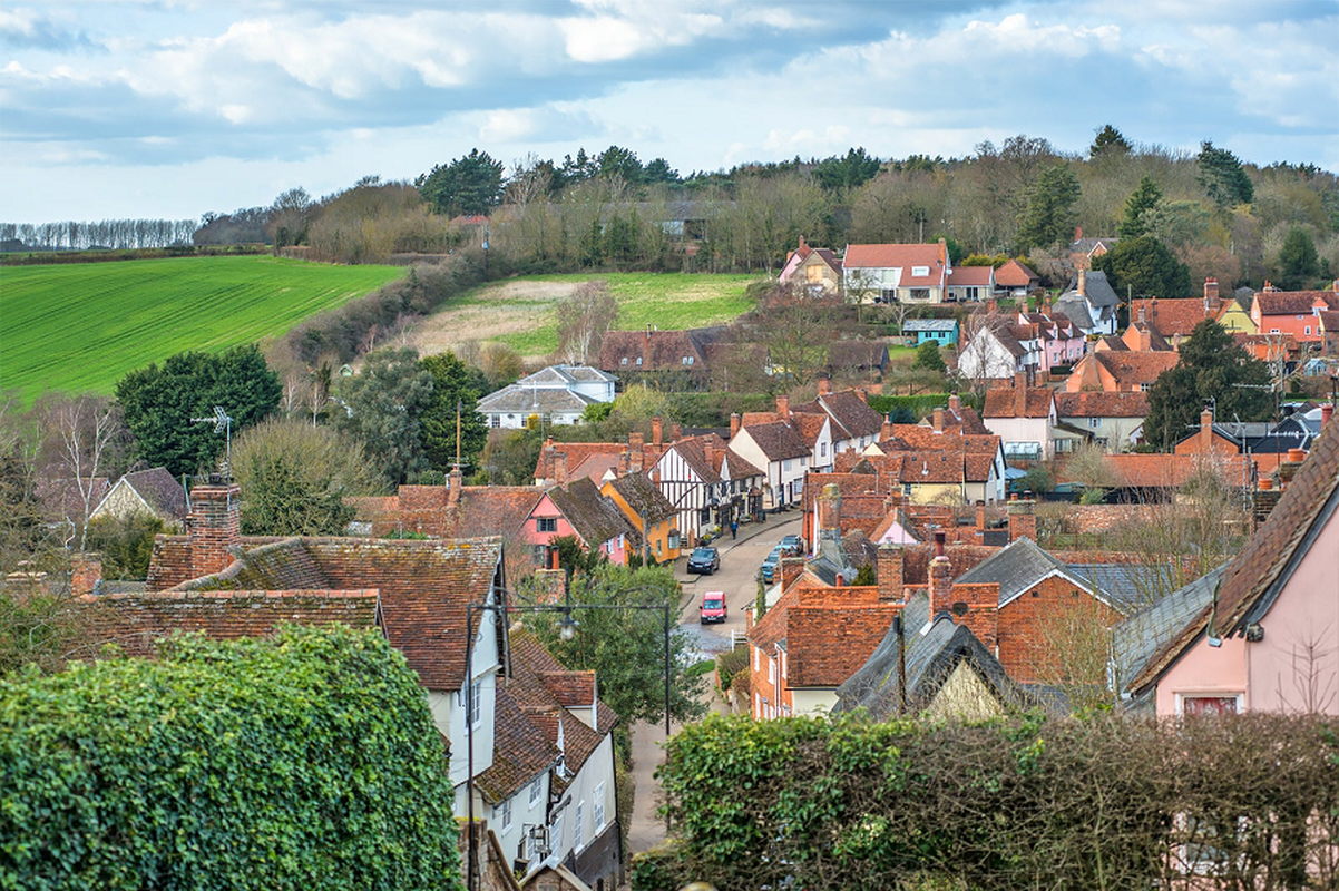
[[[266,342],[404,274],[272,257],[0,268],[0,389],[110,393],[187,349]]]

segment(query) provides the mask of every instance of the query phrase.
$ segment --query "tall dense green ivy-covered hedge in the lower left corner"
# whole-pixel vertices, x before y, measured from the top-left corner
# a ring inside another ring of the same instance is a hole
[[[451,805],[376,633],[187,635],[0,682],[0,888],[459,888]]]

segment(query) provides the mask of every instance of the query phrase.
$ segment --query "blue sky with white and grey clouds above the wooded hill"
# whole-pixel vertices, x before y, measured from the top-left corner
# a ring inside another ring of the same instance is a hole
[[[0,221],[198,218],[478,147],[682,174],[1044,136],[1339,171],[1339,1],[0,5]]]

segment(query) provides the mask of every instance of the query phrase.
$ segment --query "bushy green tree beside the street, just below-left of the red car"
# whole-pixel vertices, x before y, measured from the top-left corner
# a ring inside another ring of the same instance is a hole
[[[672,621],[679,607],[679,583],[661,567],[629,570],[612,563],[572,578],[572,601],[596,607],[668,605],[670,717],[702,717],[703,677],[692,666],[692,641]],[[600,698],[627,721],[664,720],[664,617],[657,609],[577,609],[580,623],[570,641],[561,641],[552,613],[528,613],[522,619],[545,648],[568,669],[595,670]]]

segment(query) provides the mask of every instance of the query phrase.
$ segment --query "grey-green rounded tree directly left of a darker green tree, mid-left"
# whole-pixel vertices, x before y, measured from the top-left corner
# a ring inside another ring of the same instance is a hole
[[[432,399],[432,375],[408,348],[368,353],[344,380],[340,428],[353,433],[394,486],[427,467],[420,416]]]

